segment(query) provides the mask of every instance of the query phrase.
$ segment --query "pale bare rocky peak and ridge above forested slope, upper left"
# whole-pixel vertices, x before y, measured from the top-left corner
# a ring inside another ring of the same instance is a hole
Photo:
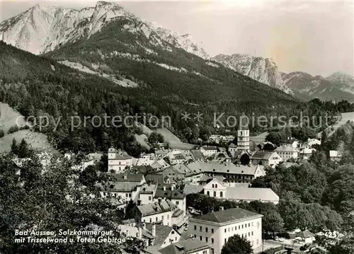
[[[106,1],[98,1],[95,7],[83,8],[81,11],[36,4],[28,11],[1,22],[0,40],[21,50],[42,54],[81,37],[91,37],[117,18],[125,18],[132,21],[132,24],[140,24],[138,28],[125,25],[124,28],[130,33],[144,33],[148,39],[149,35],[154,33],[175,47],[205,59],[209,57],[193,42],[190,35],[179,35],[159,25],[143,21],[123,6]]]

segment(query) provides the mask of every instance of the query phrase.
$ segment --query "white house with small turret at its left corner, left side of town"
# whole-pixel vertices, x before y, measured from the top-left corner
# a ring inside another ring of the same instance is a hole
[[[113,147],[108,149],[108,171],[122,173],[125,168],[132,166],[132,156],[125,151],[116,150]]]

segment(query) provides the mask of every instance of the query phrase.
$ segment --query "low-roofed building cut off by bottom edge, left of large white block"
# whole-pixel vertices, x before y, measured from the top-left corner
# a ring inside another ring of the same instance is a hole
[[[210,254],[210,246],[195,238],[186,239],[162,248],[159,254]]]

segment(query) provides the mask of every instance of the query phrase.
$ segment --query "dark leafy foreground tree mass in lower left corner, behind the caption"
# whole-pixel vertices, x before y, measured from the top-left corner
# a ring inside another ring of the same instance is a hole
[[[32,156],[18,175],[12,159],[13,154],[0,155],[1,253],[121,253],[123,248],[141,248],[142,241],[137,238],[110,244],[98,243],[98,236],[90,236],[96,242],[89,244],[76,241],[76,236],[68,236],[73,241],[67,243],[16,243],[16,230],[112,230],[119,238],[122,217],[107,198],[80,183],[73,161],[55,160],[44,171],[39,158]]]

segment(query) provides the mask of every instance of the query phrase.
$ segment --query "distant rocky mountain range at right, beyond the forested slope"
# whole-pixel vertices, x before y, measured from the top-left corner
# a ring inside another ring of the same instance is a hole
[[[270,58],[249,54],[218,54],[213,60],[268,86],[292,94],[299,100],[348,100],[354,102],[354,77],[335,72],[326,78],[295,71],[282,73]]]

